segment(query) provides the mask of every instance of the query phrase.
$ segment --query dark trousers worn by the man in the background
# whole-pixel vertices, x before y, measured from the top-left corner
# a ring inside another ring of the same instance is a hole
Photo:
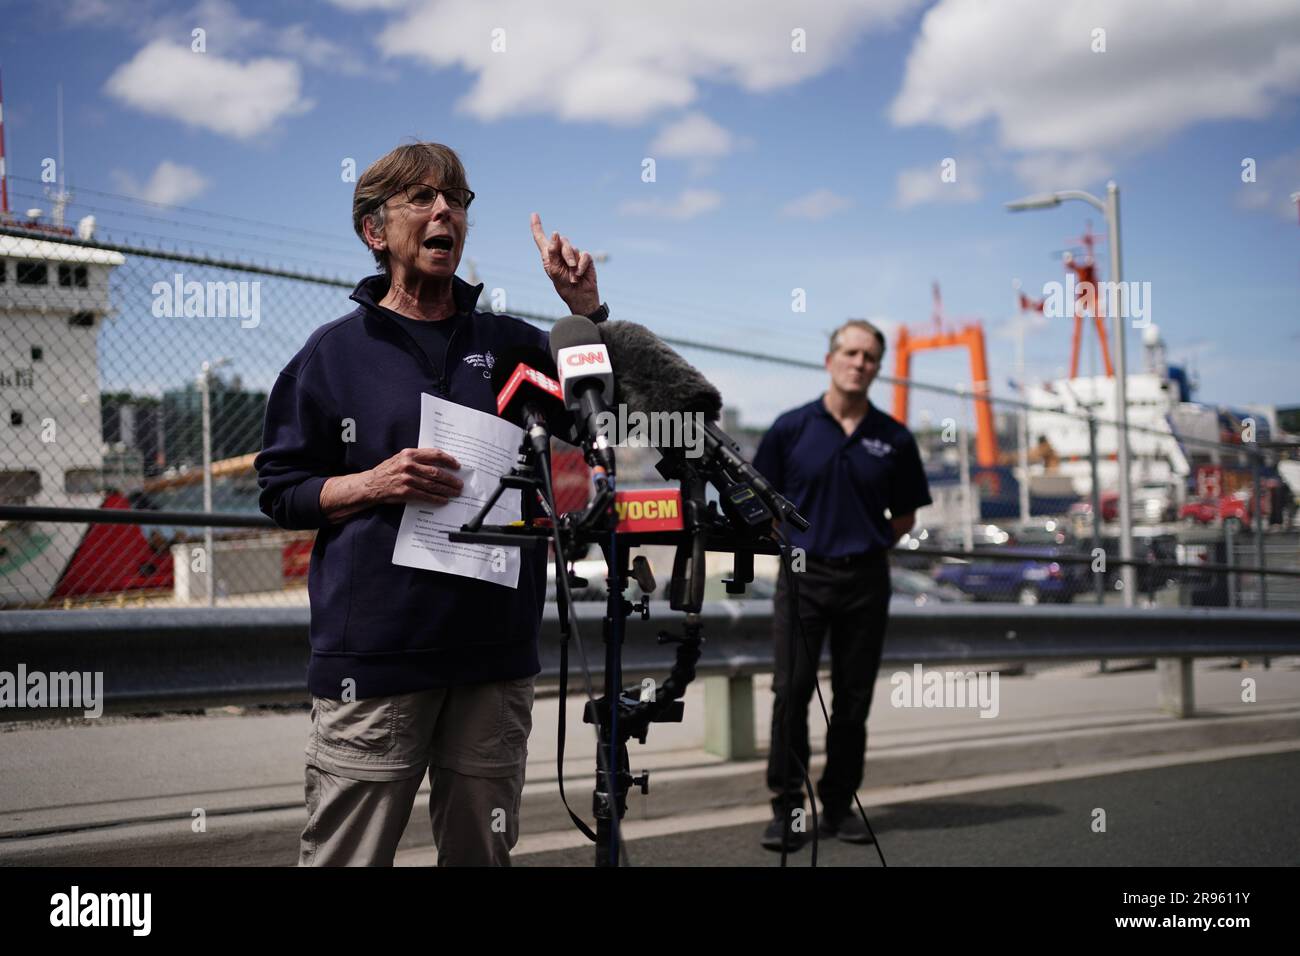
[[[779,813],[803,805],[801,765],[809,765],[809,702],[816,684],[816,662],[829,633],[831,728],[826,737],[826,769],[816,793],[827,813],[840,816],[849,809],[862,783],[867,713],[871,710],[871,693],[889,622],[889,559],[879,553],[858,563],[836,566],[809,557],[806,570],[796,571],[796,581],[802,635],[796,628],[793,667],[789,632],[792,596],[784,568],[774,598],[776,670],[772,689],[776,701],[772,708],[772,747],[767,756],[767,787],[776,795],[772,806]],[[815,719],[822,721],[820,706],[814,710]],[[793,754],[785,752],[790,735]],[[786,767],[784,782],[783,760]]]

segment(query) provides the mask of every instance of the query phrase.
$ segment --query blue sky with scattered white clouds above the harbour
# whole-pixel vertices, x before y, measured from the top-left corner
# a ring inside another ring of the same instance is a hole
[[[151,226],[114,220],[130,207],[101,193],[281,224],[246,226],[257,241],[204,238],[351,278],[369,258],[351,233],[342,163],[360,170],[404,139],[434,139],[465,160],[478,194],[465,255],[508,306],[567,312],[529,235],[534,209],[610,255],[598,271],[615,316],[781,355],[819,360],[824,333],[849,316],[927,326],[937,280],[949,316],[984,320],[994,389],[1008,394],[1013,278],[1028,291],[1063,278],[1070,237],[1087,219],[1104,224],[1079,203],[1019,215],[1002,203],[1044,189],[1102,194],[1114,178],[1124,277],[1152,284],[1152,317],[1170,356],[1199,372],[1199,397],[1300,403],[1290,0],[824,0],[811,12],[573,0],[563,10],[0,4],[10,190],[32,190],[56,155],[61,83],[65,173],[105,230]],[[204,52],[191,49],[195,27]],[[642,181],[646,157],[654,182]],[[941,179],[945,159],[956,182]],[[1245,159],[1254,182],[1242,179]],[[794,289],[806,312],[792,311]],[[1034,328],[1030,377],[1060,375],[1069,339],[1063,320]],[[1140,365],[1138,333],[1128,345]],[[820,385],[690,358],[746,420]],[[922,356],[914,373],[968,378],[956,354]]]

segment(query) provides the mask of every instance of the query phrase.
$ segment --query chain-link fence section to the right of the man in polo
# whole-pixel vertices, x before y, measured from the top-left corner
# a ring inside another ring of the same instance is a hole
[[[927,594],[905,571],[920,602],[1119,604],[1131,589],[1135,604],[1300,606],[1297,447],[1264,411],[1190,401],[1158,352],[1130,373],[1123,428],[1110,376],[1027,386],[1014,399],[890,381],[896,407],[915,390],[949,408],[913,424],[936,503],[896,564],[941,589]]]

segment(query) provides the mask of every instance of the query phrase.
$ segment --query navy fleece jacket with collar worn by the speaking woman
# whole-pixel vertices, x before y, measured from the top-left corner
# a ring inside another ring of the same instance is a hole
[[[259,506],[282,528],[317,528],[307,588],[308,689],[358,698],[525,678],[541,670],[537,636],[545,557],[521,553],[519,587],[393,563],[404,505],[374,505],[338,523],[321,514],[321,485],[416,447],[420,393],[495,414],[490,369],[512,345],[545,349],[541,329],[474,311],[482,286],[452,280],[462,319],[443,368],[376,306],[387,276],[358,284],[356,310],[316,329],[285,365],[266,403],[254,467]],[[351,420],[351,424],[350,421]],[[344,433],[351,441],[344,441]]]

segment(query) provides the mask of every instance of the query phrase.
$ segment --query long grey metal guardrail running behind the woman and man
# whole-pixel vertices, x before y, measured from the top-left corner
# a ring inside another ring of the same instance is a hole
[[[578,604],[588,657],[601,659],[603,606]],[[628,622],[624,670],[629,684],[662,676],[672,650],[658,644],[680,617],[651,602],[653,619]],[[772,602],[705,605],[701,676],[737,691],[774,666]],[[307,607],[116,609],[0,614],[0,670],[104,674],[105,705],[117,711],[304,700]],[[559,619],[542,620],[543,679],[559,675]],[[1300,613],[1115,606],[900,606],[890,613],[888,663],[975,665],[1104,658],[1245,657],[1300,654]],[[571,672],[577,672],[576,656]],[[1180,710],[1191,713],[1190,688]]]

